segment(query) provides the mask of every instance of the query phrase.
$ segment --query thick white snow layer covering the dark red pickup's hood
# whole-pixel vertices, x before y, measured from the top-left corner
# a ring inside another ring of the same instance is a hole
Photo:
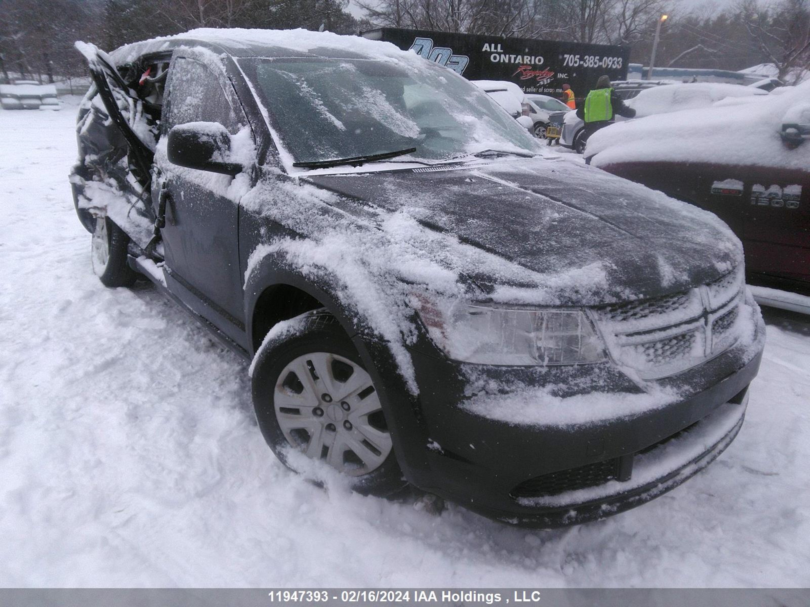
[[[720,162],[806,171],[810,145],[791,150],[780,133],[786,114],[806,103],[808,96],[810,83],[804,83],[757,103],[721,101],[708,108],[616,123],[590,137],[587,153],[597,167],[645,161]]]

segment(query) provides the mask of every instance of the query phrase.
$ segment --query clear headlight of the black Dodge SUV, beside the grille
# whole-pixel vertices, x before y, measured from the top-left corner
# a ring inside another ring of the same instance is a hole
[[[413,298],[433,342],[450,359],[490,365],[569,365],[607,358],[582,310],[509,309]]]

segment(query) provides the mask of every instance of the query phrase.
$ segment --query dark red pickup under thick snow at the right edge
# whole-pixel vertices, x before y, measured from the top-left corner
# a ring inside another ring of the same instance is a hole
[[[752,284],[810,295],[810,83],[777,90],[756,103],[612,125],[586,155],[718,214],[743,241]]]

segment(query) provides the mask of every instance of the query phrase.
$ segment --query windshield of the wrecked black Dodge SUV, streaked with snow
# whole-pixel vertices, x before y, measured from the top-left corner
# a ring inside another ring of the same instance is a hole
[[[408,148],[416,151],[403,159],[537,151],[483,91],[429,62],[405,70],[369,59],[251,58],[240,66],[296,163]]]

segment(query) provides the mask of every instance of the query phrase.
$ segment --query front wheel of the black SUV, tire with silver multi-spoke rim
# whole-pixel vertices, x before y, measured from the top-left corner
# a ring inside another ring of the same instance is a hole
[[[272,338],[254,361],[254,410],[266,443],[294,472],[286,456],[291,447],[351,476],[358,493],[394,495],[407,482],[352,341],[323,309],[296,320],[296,330]]]

